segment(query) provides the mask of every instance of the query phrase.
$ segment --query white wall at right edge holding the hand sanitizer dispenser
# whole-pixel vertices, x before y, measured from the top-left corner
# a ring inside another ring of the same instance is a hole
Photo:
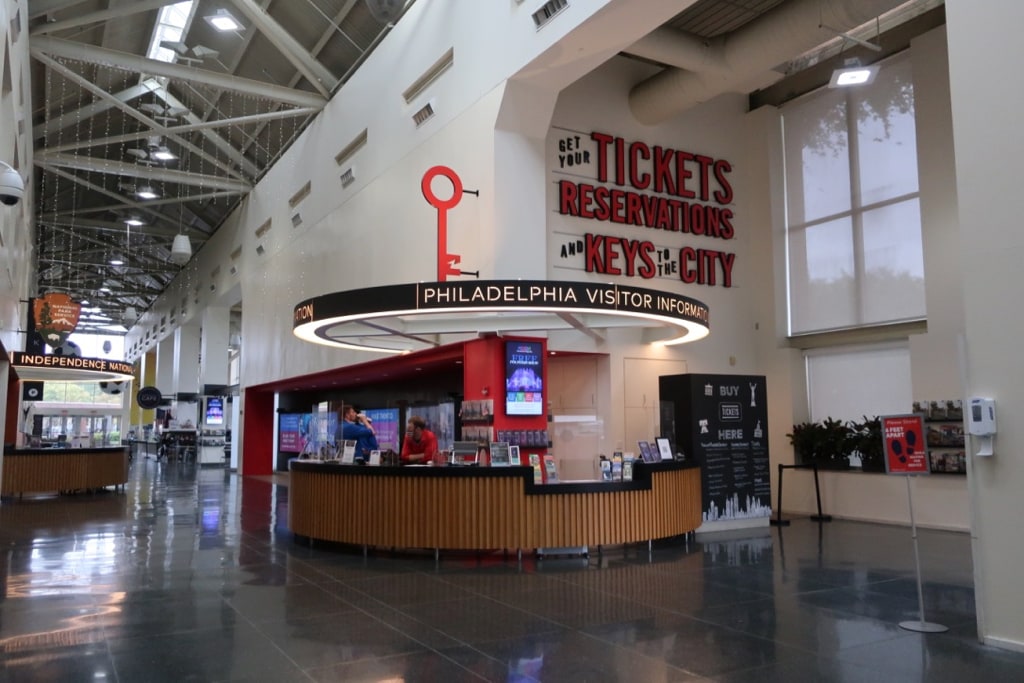
[[[1024,405],[1019,311],[1024,300],[1024,193],[1020,165],[1024,62],[1018,33],[1024,4],[992,0],[946,3],[949,87],[959,217],[957,261],[966,311],[965,393],[997,401],[995,456],[969,470],[975,599],[985,642],[1024,650]],[[972,439],[971,447],[977,442]]]

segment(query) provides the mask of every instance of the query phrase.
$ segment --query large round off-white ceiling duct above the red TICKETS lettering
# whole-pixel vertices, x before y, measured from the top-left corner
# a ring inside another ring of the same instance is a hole
[[[656,125],[725,92],[745,91],[751,80],[767,75],[795,53],[833,40],[837,32],[852,31],[901,4],[902,0],[790,0],[712,41],[694,42],[676,32],[678,62],[700,71],[672,67],[655,74],[630,92],[630,110],[641,123]],[[677,63],[664,35],[654,39],[660,40],[659,60]],[[643,56],[645,45],[653,48],[645,40],[637,43],[635,52],[633,48],[627,52]],[[707,69],[701,69],[701,62]],[[781,77],[774,74],[771,78]]]

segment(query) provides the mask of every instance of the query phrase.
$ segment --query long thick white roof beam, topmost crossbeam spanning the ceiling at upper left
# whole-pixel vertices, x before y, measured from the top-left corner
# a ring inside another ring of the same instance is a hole
[[[35,36],[32,38],[30,47],[34,53],[45,52],[46,54],[67,59],[79,59],[104,67],[127,69],[128,71],[135,71],[151,76],[166,76],[167,78],[188,81],[190,83],[203,83],[215,88],[241,92],[253,95],[254,97],[265,97],[266,99],[295,104],[296,106],[315,106],[319,109],[327,103],[326,96],[312,92],[294,90],[269,83],[260,83],[259,81],[232,76],[231,74],[218,74],[203,69],[148,59],[128,52],[93,47],[70,40],[53,38],[52,36]]]

